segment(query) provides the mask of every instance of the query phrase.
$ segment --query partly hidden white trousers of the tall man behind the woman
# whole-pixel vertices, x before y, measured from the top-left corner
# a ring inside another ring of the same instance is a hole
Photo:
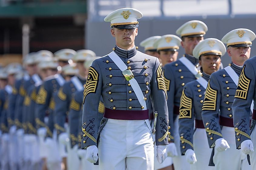
[[[178,156],[172,158],[175,170],[190,170],[190,164],[187,162],[185,155],[181,155],[180,135],[179,135],[179,117],[174,120],[174,143],[178,152]]]

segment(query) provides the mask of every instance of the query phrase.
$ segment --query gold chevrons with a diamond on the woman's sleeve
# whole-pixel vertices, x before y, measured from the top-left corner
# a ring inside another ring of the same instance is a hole
[[[179,119],[192,118],[192,99],[186,96],[184,90],[182,90],[181,94]]]

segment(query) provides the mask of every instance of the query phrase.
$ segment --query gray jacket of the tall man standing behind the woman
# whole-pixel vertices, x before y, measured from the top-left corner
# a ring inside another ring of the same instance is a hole
[[[193,56],[185,54],[185,57],[191,61],[197,67],[198,59]],[[164,67],[164,75],[165,75],[165,85],[167,89],[167,105],[168,105],[168,113],[169,113],[169,125],[171,127],[169,135],[171,141],[174,141],[174,136],[172,136],[172,130],[174,129],[174,120],[179,115],[179,106],[180,106],[180,98],[183,87],[193,80],[195,80],[195,76],[188,70],[184,64],[182,64],[179,60],[166,64]],[[179,139],[178,139],[179,140]]]

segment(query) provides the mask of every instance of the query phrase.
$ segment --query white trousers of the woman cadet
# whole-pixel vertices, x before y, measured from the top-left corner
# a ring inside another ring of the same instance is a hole
[[[213,170],[214,166],[209,166],[212,149],[209,148],[205,129],[195,130],[193,145],[197,162],[191,165],[191,170]]]

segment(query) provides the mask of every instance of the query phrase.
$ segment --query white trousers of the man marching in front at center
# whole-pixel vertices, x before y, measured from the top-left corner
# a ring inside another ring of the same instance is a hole
[[[154,143],[149,121],[108,119],[100,133],[98,155],[100,170],[153,170]]]

